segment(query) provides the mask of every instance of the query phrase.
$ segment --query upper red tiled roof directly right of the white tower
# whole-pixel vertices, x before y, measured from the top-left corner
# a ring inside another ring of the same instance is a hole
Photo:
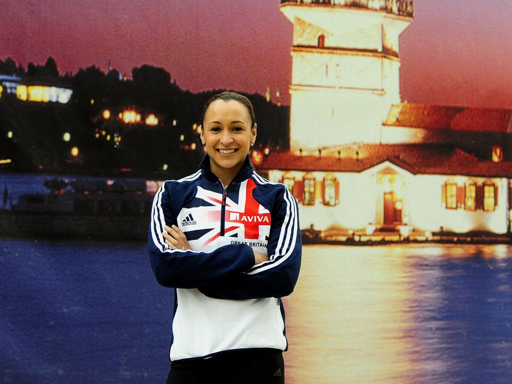
[[[384,125],[432,130],[512,133],[512,110],[463,108],[402,102]]]

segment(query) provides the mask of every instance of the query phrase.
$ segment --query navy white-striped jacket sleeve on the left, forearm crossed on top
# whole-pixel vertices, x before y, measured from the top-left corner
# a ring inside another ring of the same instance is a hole
[[[200,252],[171,249],[165,243],[163,227],[177,224],[177,213],[173,207],[181,207],[187,199],[186,193],[177,186],[176,182],[166,181],[153,200],[147,243],[157,282],[164,287],[199,288],[252,267],[254,252],[246,244],[226,245],[212,252]]]

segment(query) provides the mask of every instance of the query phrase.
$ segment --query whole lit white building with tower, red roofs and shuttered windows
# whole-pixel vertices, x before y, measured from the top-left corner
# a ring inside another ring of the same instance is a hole
[[[412,1],[282,1],[290,151],[260,167],[329,233],[510,234],[512,111],[401,102]]]

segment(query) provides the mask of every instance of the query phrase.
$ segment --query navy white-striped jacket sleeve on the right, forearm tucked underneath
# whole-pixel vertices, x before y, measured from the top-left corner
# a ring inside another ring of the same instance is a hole
[[[274,202],[268,241],[269,261],[199,290],[206,296],[226,300],[287,296],[297,282],[301,255],[297,202],[283,186]]]

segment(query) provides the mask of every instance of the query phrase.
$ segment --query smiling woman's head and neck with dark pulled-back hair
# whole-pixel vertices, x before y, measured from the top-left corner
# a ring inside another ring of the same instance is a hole
[[[256,138],[256,124],[244,104],[215,100],[204,115],[201,139],[210,157],[210,169],[227,185],[242,169]]]

